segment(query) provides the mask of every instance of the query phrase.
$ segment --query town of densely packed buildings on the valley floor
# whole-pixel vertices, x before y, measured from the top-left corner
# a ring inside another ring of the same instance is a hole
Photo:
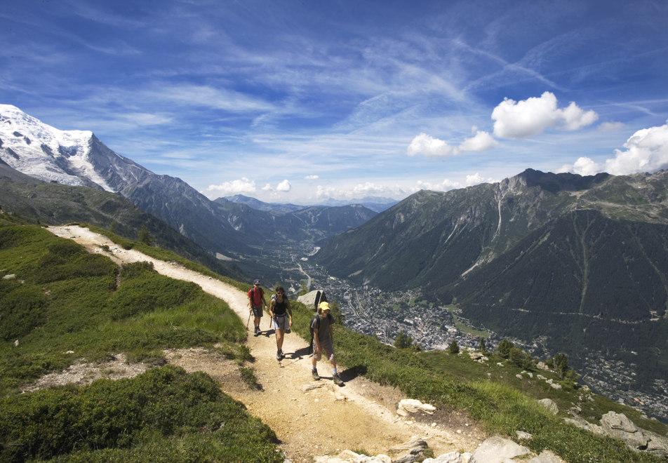
[[[470,333],[478,330],[488,333],[488,349],[497,347],[503,338],[491,330],[474,325],[460,309],[453,309],[456,313],[455,322],[450,313],[451,306],[431,304],[423,300],[419,290],[387,293],[373,286],[359,286],[347,279],[331,276],[325,267],[312,262],[315,250],[312,244],[302,243],[297,248],[275,247],[265,249],[265,252],[272,255],[272,262],[295,264],[294,268],[285,264],[281,270],[283,279],[280,281],[286,288],[290,287],[290,298],[298,297],[302,283],[309,284],[311,290],[324,290],[328,300],[338,302],[345,326],[357,333],[374,336],[385,344],[394,344],[396,336],[403,331],[423,350],[446,350],[453,340],[460,347],[478,349],[479,337]],[[269,264],[269,261],[265,263]],[[542,338],[510,339],[539,361],[556,354],[556,351],[549,350]],[[569,360],[582,377],[580,382],[587,384],[596,393],[668,422],[668,388],[664,380],[655,380],[643,390],[634,389],[638,365],[606,356],[603,351],[585,351],[580,357],[569,356]]]

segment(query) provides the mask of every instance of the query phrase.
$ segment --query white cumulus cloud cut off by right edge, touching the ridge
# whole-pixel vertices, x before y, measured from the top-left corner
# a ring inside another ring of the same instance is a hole
[[[564,164],[557,172],[627,175],[668,168],[668,121],[663,126],[638,130],[624,143],[624,148],[625,151],[615,149],[615,157],[606,159],[605,163],[599,164],[581,157],[573,165]]]

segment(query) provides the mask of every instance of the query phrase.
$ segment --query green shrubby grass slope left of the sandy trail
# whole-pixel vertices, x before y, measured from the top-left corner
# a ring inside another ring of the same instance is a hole
[[[81,358],[124,353],[161,365],[166,347],[220,343],[243,363],[246,329],[225,302],[146,263],[119,271],[107,257],[6,214],[0,274],[14,275],[0,279],[1,461],[282,461],[273,431],[211,377],[171,365],[20,394]]]

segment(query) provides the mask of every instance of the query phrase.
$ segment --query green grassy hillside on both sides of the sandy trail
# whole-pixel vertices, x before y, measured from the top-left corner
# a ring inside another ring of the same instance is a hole
[[[89,255],[72,241],[6,215],[0,215],[0,270],[16,276],[0,280],[3,461],[279,460],[270,442],[273,433],[220,394],[206,375],[166,366],[133,380],[19,394],[22,384],[65,368],[74,356],[94,361],[125,352],[159,364],[165,347],[221,342],[228,356],[242,361],[247,352],[238,343],[246,331],[224,302],[156,274],[147,264],[117,271],[102,255]],[[293,328],[309,339],[312,311],[294,302],[293,313]],[[527,431],[534,438],[523,443],[537,452],[549,448],[569,462],[660,461],[549,415],[535,398],[549,396],[563,409],[578,392],[514,380],[519,368],[507,361],[493,368],[465,356],[416,354],[340,325],[334,342],[347,366],[344,377],[365,375],[441,408],[466,410],[492,433]],[[497,360],[502,361],[490,363]],[[596,419],[608,411],[609,404],[598,404],[583,415]],[[620,410],[639,418],[632,409]],[[654,424],[636,422],[646,428]]]

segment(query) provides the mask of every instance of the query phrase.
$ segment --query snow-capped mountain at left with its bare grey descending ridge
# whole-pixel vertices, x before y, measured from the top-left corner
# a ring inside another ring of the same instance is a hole
[[[0,105],[0,159],[46,182],[105,189],[159,217],[212,253],[243,252],[241,233],[206,196],[179,178],[156,175],[86,130],[58,130]],[[234,214],[233,214],[234,215]]]

